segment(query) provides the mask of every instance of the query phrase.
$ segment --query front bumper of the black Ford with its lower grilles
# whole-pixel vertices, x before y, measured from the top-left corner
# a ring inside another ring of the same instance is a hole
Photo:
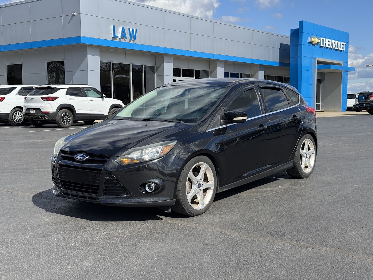
[[[78,163],[73,156],[51,158],[53,194],[75,200],[116,206],[172,206],[183,162],[171,154],[133,165],[120,165],[110,157],[103,164]],[[148,193],[144,186],[159,188]],[[114,187],[114,189],[112,189]],[[115,195],[112,195],[112,194]]]

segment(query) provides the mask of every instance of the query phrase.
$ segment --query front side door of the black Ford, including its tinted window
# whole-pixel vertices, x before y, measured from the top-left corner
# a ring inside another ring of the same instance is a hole
[[[223,170],[225,183],[231,184],[269,168],[270,123],[254,85],[239,90],[224,106],[224,111],[247,113],[247,121],[229,124],[224,133]]]

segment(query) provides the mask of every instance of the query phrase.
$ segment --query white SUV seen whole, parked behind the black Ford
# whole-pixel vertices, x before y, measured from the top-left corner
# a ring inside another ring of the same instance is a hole
[[[23,116],[34,127],[50,121],[56,121],[59,127],[70,127],[74,121],[93,124],[122,107],[120,100],[107,98],[90,85],[43,85],[25,96]]]

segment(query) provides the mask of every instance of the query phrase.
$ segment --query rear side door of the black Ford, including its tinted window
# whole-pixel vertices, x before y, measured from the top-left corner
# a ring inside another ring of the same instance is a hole
[[[271,128],[270,164],[276,167],[289,161],[301,136],[302,112],[282,87],[260,84]]]

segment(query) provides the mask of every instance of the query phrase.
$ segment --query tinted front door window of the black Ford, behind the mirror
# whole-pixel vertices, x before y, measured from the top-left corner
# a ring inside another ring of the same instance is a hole
[[[250,90],[246,90],[237,96],[226,109],[226,111],[231,110],[239,110],[247,113],[248,119],[261,115],[259,99],[255,88],[250,88]]]

